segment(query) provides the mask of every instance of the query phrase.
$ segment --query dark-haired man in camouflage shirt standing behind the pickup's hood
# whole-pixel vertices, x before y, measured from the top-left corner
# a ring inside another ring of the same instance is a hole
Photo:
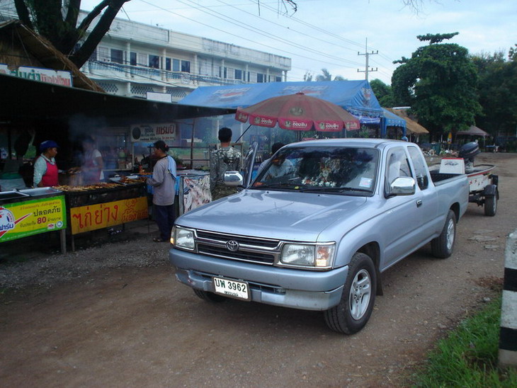
[[[220,149],[210,153],[210,191],[212,200],[218,200],[237,193],[237,188],[225,186],[223,176],[226,171],[241,171],[241,153],[230,147],[232,130],[223,127],[219,130]]]

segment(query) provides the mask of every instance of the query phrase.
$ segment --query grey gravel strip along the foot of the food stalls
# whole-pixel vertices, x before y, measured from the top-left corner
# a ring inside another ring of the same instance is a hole
[[[106,230],[76,237],[76,251],[59,252],[57,236],[47,245],[45,235],[5,243],[0,253],[0,290],[25,287],[50,288],[108,268],[143,268],[169,263],[169,244],[154,243],[152,225],[135,222],[130,229],[111,235]],[[138,232],[137,230],[145,232]],[[37,241],[33,241],[36,239]],[[54,241],[55,240],[55,241]]]

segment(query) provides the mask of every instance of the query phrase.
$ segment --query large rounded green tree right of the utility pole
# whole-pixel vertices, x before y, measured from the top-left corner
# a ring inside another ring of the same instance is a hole
[[[464,130],[481,112],[477,101],[477,71],[465,47],[443,43],[458,33],[419,35],[428,45],[393,72],[392,90],[397,105],[409,105],[431,135]]]

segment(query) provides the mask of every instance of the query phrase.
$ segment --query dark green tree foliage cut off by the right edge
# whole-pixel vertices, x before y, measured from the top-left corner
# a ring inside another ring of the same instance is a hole
[[[517,127],[517,55],[504,52],[472,56],[479,74],[479,103],[482,113],[476,118],[478,127],[491,135],[515,134]]]

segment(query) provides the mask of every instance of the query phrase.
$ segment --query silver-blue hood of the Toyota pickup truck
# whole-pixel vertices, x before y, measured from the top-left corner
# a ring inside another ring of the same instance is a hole
[[[319,241],[319,234],[334,222],[343,222],[343,215],[356,219],[353,215],[366,200],[349,195],[243,190],[191,210],[178,217],[176,224],[227,234]]]

